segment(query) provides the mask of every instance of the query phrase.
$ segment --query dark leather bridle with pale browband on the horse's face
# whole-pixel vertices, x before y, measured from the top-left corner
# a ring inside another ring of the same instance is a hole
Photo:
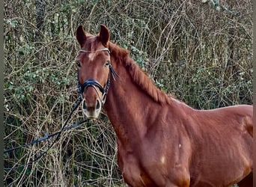
[[[98,49],[95,51],[88,51],[88,50],[80,49],[79,52],[109,52],[109,54],[110,54],[110,51],[108,48],[102,48],[102,49]],[[104,85],[104,87],[102,85],[100,85],[100,82],[97,82],[97,80],[95,80],[95,79],[87,79],[87,80],[85,80],[85,82],[83,84],[80,84],[79,71],[77,70],[77,82],[78,82],[77,85],[78,85],[78,91],[79,91],[80,98],[82,99],[82,93],[84,91],[86,91],[87,88],[89,88],[89,87],[94,88],[94,90],[97,92],[97,95],[100,98],[100,94],[98,93],[98,91],[96,89],[96,88],[99,88],[100,92],[103,94],[101,102],[104,105],[104,103],[106,101],[106,95],[109,91],[110,75],[112,76],[114,81],[115,81],[115,76],[118,77],[118,73],[115,72],[111,63],[109,63],[109,77],[108,77],[108,80],[107,80],[106,84]]]

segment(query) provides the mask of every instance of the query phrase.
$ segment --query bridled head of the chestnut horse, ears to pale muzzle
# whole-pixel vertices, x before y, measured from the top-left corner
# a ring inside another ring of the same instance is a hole
[[[114,70],[110,63],[109,30],[100,25],[100,34],[85,33],[80,25],[76,30],[80,50],[76,57],[82,111],[88,118],[97,118],[106,101],[110,78]]]

